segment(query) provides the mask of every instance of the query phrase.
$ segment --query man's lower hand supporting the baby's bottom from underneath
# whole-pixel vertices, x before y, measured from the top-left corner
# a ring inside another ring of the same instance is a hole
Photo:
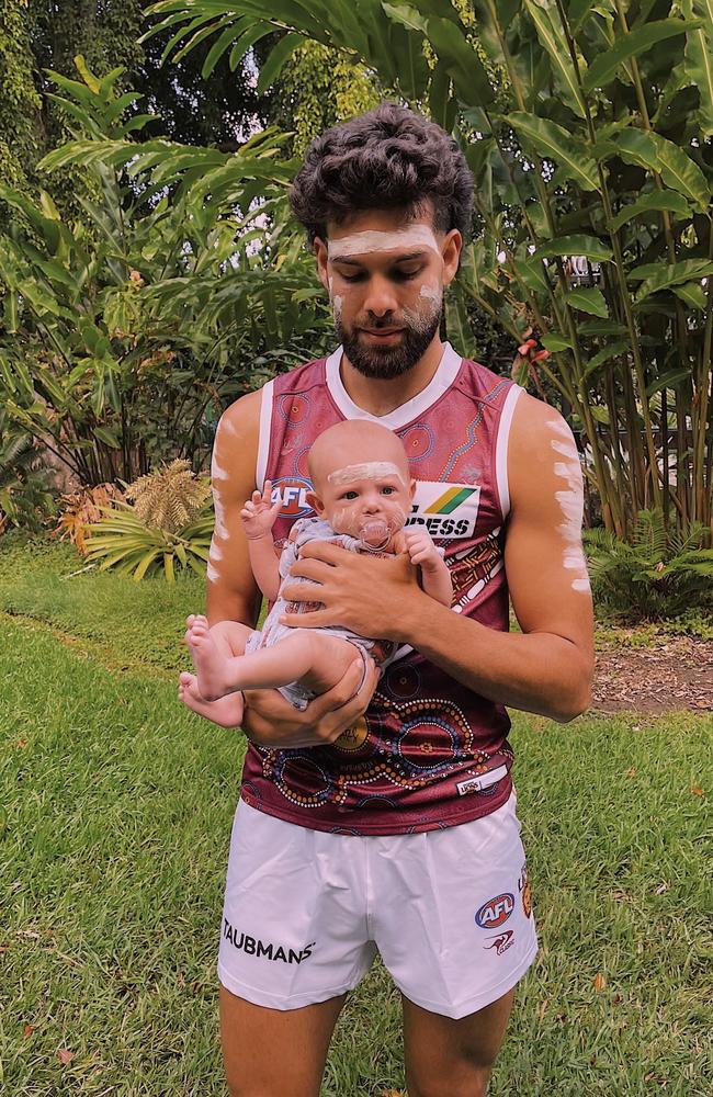
[[[363,682],[364,661],[359,656],[341,681],[315,698],[303,712],[276,690],[247,690],[244,732],[256,746],[280,750],[333,743],[363,715],[376,689],[378,671],[371,659],[367,664]]]

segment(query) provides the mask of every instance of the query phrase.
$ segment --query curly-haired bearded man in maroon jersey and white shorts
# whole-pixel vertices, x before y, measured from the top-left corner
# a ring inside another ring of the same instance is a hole
[[[505,705],[566,722],[588,704],[581,475],[553,408],[440,340],[471,200],[454,143],[406,109],[318,138],[292,204],[342,346],[238,400],[217,432],[212,624],[254,623],[245,500],[271,479],[286,536],[309,448],[341,419],[399,434],[418,480],[411,521],[454,584],[453,606],[434,604],[407,556],[330,545],[293,567],[320,584],[296,584],[294,599],[324,609],[287,623],[398,649],[378,681],[355,659],[304,713],[247,695],[218,964],[231,1097],[318,1095],[376,948],[401,991],[409,1097],[480,1097],[536,950]]]

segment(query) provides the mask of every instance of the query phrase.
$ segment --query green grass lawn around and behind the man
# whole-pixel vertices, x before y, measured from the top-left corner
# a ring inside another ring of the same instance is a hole
[[[0,1093],[224,1095],[214,969],[244,742],[176,700],[201,584],[67,578],[79,566],[0,543]],[[708,1095],[713,720],[513,722],[542,948],[493,1097]],[[322,1095],[391,1088],[398,995],[376,966]]]

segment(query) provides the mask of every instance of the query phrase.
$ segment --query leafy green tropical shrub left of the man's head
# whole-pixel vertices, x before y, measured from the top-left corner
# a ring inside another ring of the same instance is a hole
[[[70,224],[47,192],[3,183],[0,397],[82,484],[132,480],[161,460],[200,467],[223,407],[314,353],[330,329],[294,227],[284,137],[238,152],[136,139],[150,115],[98,80],[53,75],[76,139],[46,171],[81,168],[95,201]]]

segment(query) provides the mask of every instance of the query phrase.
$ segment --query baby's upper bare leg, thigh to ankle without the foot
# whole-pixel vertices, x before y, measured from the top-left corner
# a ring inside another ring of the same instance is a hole
[[[239,689],[270,689],[298,681],[315,693],[325,693],[344,676],[356,657],[354,644],[328,632],[299,629],[242,658],[231,659]]]

